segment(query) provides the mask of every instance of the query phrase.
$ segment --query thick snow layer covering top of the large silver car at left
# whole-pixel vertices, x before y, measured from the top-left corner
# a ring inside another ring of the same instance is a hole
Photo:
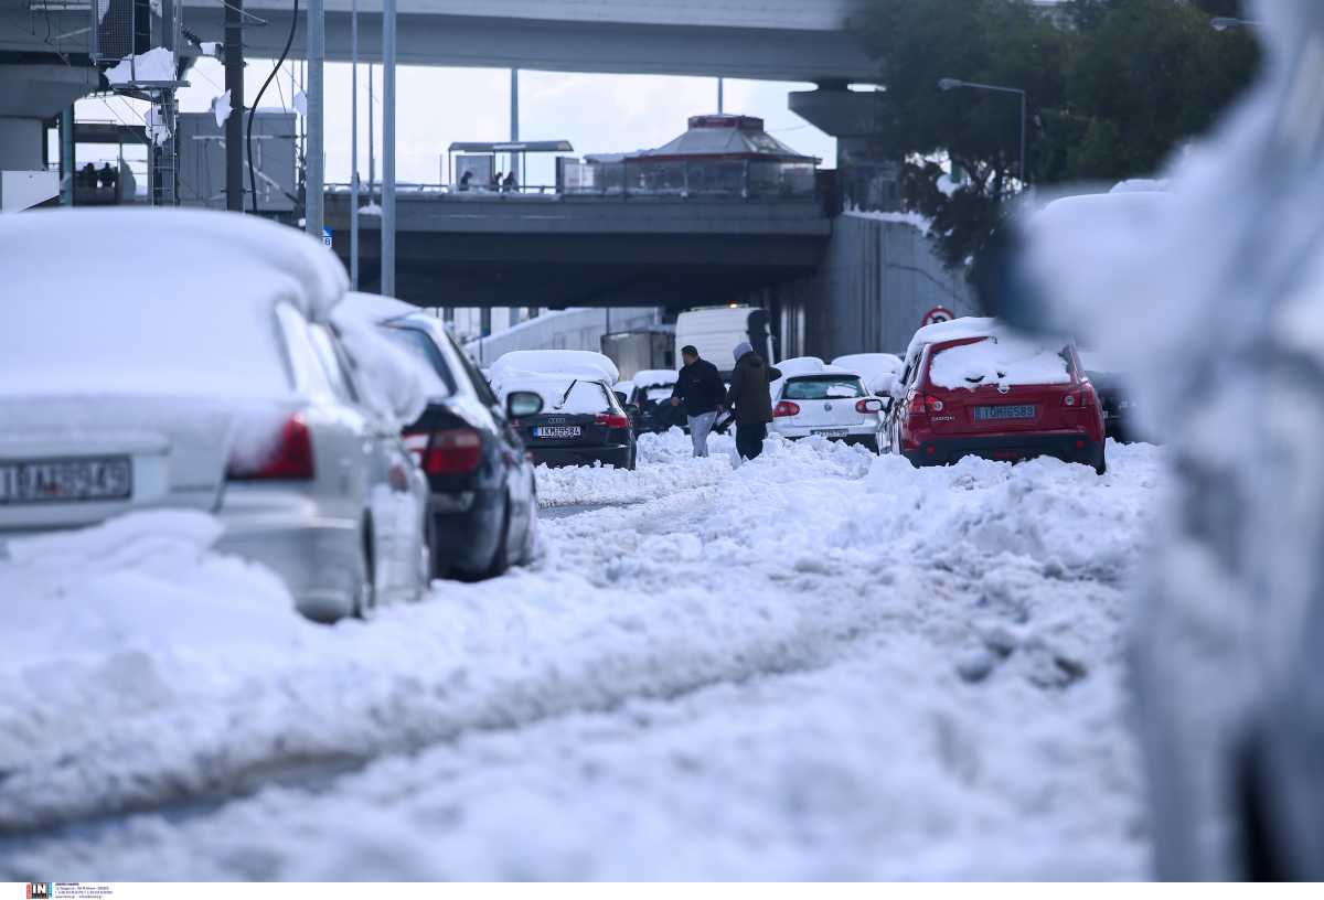
[[[0,271],[7,394],[283,393],[274,310],[326,320],[348,286],[303,232],[201,209],[0,216]]]

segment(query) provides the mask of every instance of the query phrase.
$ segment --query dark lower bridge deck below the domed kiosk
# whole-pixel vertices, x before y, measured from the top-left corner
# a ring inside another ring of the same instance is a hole
[[[326,195],[348,265],[350,196]],[[359,217],[360,285],[380,273],[380,220]],[[402,192],[396,292],[420,306],[727,303],[814,273],[831,236],[821,201]]]

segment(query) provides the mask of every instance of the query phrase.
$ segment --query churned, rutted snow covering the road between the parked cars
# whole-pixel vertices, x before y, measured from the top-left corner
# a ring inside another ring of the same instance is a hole
[[[530,570],[319,627],[214,524],[0,560],[0,880],[1140,878],[1160,451],[540,470]],[[600,506],[600,504],[612,506]]]

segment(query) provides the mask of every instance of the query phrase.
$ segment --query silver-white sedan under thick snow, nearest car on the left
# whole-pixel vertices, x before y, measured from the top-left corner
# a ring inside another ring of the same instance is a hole
[[[150,255],[150,265],[144,262]],[[183,508],[316,619],[426,586],[424,401],[299,232],[197,210],[0,218],[0,556],[25,536]]]

